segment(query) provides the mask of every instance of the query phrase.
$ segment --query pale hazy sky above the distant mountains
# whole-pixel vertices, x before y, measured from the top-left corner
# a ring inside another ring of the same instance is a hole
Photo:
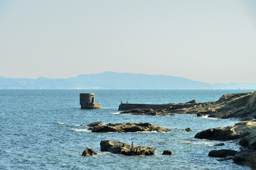
[[[255,0],[0,0],[0,76],[256,82]]]

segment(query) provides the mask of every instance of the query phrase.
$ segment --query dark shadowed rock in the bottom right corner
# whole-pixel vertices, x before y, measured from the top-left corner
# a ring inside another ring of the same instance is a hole
[[[254,149],[238,152],[233,160],[235,164],[246,165],[256,169],[256,151]]]

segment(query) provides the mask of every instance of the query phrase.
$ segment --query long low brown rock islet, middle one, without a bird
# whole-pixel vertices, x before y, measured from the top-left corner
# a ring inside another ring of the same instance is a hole
[[[140,132],[140,131],[156,131],[169,132],[170,129],[163,128],[152,123],[109,123],[107,125],[95,125],[89,128],[92,132]]]

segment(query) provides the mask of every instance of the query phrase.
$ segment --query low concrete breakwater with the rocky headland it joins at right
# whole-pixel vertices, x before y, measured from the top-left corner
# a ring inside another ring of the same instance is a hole
[[[187,103],[152,105],[151,108],[150,105],[144,104],[123,103],[121,105],[125,105],[125,110],[132,108],[121,112],[121,114],[170,115],[171,113],[187,113],[208,115],[211,118],[243,118],[244,120],[252,120],[256,118],[256,91],[252,91],[252,93],[227,94],[221,96],[218,101],[205,103],[197,103],[193,100]],[[136,106],[139,108],[134,108]],[[143,108],[143,106],[146,106],[146,108]],[[124,106],[122,107],[124,108]]]

